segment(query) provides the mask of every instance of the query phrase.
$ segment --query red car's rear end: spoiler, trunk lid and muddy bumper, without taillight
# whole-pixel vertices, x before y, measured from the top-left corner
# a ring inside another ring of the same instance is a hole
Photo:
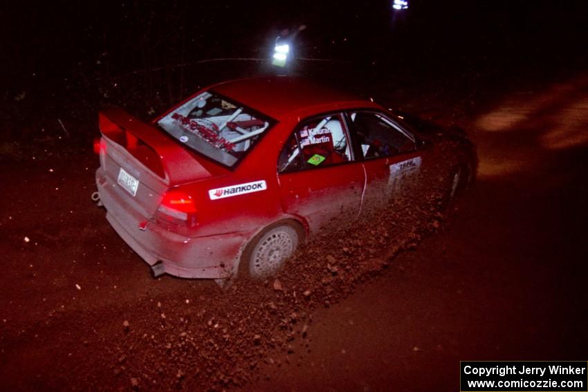
[[[190,236],[159,225],[156,212],[170,187],[214,177],[207,168],[153,126],[122,111],[100,113],[100,168],[96,183],[107,218],[116,232],[147,263],[163,261],[180,277],[223,278],[231,272],[249,232]],[[124,170],[138,180],[136,194],[118,178]]]

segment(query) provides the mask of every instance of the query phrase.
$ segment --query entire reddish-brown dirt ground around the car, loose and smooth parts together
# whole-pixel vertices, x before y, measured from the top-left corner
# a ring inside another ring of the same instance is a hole
[[[463,118],[479,178],[448,221],[358,227],[296,259],[302,280],[226,291],[151,278],[90,202],[91,153],[3,162],[0,384],[450,391],[459,360],[585,360],[586,86]]]

